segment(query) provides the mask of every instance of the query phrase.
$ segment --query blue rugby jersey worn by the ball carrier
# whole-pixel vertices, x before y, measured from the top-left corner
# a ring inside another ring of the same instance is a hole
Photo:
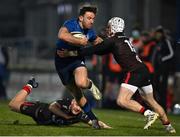
[[[63,26],[66,27],[70,33],[73,33],[73,32],[83,33],[88,38],[89,42],[93,42],[97,37],[93,29],[82,29],[81,26],[79,25],[78,19],[67,20],[65,21]],[[56,47],[57,49],[63,48],[63,49],[70,49],[70,50],[77,50],[80,48],[78,46],[72,46],[68,44],[67,42],[60,39],[57,40]]]

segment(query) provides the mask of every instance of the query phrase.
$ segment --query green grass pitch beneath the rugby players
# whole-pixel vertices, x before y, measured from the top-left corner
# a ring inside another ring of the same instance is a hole
[[[143,130],[145,119],[137,113],[122,110],[94,110],[99,119],[113,129],[95,130],[83,123],[72,126],[38,126],[27,116],[9,110],[8,102],[0,102],[0,136],[169,136],[160,120],[149,130]],[[180,115],[169,115],[180,135]]]

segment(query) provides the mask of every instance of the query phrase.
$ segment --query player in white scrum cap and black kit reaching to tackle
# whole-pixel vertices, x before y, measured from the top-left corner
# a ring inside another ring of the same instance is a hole
[[[59,56],[89,56],[92,54],[104,55],[112,53],[116,62],[126,72],[124,82],[119,89],[117,104],[134,112],[139,112],[147,118],[144,129],[148,129],[158,117],[169,133],[175,133],[163,108],[153,97],[153,87],[150,75],[145,64],[140,60],[129,38],[124,35],[124,20],[114,17],[108,22],[108,39],[93,47],[81,48],[80,50],[59,51]],[[146,109],[136,100],[132,99],[134,93],[139,90],[143,100],[155,111]]]

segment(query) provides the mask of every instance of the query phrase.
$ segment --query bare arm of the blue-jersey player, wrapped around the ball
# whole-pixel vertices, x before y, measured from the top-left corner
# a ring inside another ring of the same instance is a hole
[[[66,27],[60,28],[59,33],[58,33],[58,38],[72,45],[86,46],[88,44],[88,39],[86,37],[76,38],[68,31]]]

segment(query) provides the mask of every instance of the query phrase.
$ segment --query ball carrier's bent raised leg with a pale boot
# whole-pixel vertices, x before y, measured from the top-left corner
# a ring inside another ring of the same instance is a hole
[[[102,98],[101,92],[95,84],[88,78],[87,68],[85,66],[77,67],[74,70],[74,77],[76,85],[81,89],[89,89],[94,98],[100,100]]]

